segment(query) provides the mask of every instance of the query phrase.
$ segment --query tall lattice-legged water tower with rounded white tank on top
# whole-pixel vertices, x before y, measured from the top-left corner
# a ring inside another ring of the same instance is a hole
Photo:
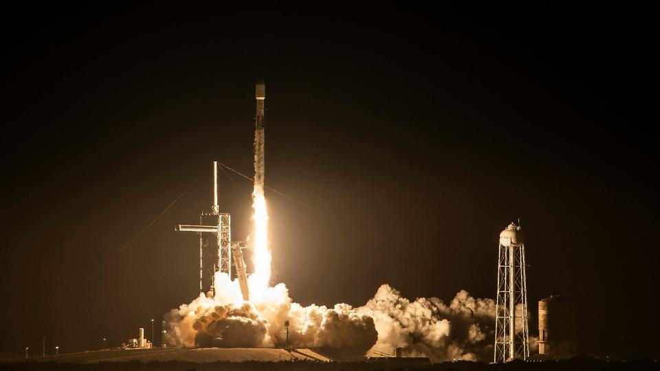
[[[500,233],[495,318],[495,363],[529,358],[525,244],[515,223]]]

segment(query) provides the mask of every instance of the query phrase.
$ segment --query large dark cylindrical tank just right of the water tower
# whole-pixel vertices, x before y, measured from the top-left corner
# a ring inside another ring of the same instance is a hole
[[[551,295],[538,302],[538,354],[577,353],[577,311],[571,300]]]

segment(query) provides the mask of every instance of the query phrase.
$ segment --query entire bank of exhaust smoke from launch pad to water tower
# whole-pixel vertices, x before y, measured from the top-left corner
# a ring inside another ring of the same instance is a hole
[[[216,282],[223,295],[200,295],[166,315],[169,346],[283,347],[288,320],[289,346],[323,348],[337,359],[364,356],[369,350],[393,353],[395,348],[436,362],[493,357],[495,302],[467,291],[448,303],[437,297],[410,301],[383,284],[364,306],[328,308],[292,302],[284,284],[243,302],[237,282],[221,277]]]

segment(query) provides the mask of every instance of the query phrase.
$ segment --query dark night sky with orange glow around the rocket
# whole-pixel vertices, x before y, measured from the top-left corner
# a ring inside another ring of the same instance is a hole
[[[210,161],[254,171],[263,79],[266,184],[320,210],[267,193],[294,300],[494,297],[520,217],[532,333],[563,294],[581,350],[658,357],[657,41],[650,10],[601,7],[5,9],[0,350],[151,337],[197,295],[198,238],[174,227],[208,211]]]

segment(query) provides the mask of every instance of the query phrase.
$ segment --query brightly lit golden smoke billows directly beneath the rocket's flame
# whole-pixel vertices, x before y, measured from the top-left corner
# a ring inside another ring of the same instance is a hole
[[[217,282],[225,285],[225,291],[218,292],[228,295],[200,295],[166,314],[168,346],[283,347],[285,320],[289,320],[289,346],[324,348],[340,359],[362,356],[377,341],[373,318],[348,304],[303,307],[292,302],[284,284],[268,288],[249,303],[236,303],[228,300],[239,295],[236,282]]]

